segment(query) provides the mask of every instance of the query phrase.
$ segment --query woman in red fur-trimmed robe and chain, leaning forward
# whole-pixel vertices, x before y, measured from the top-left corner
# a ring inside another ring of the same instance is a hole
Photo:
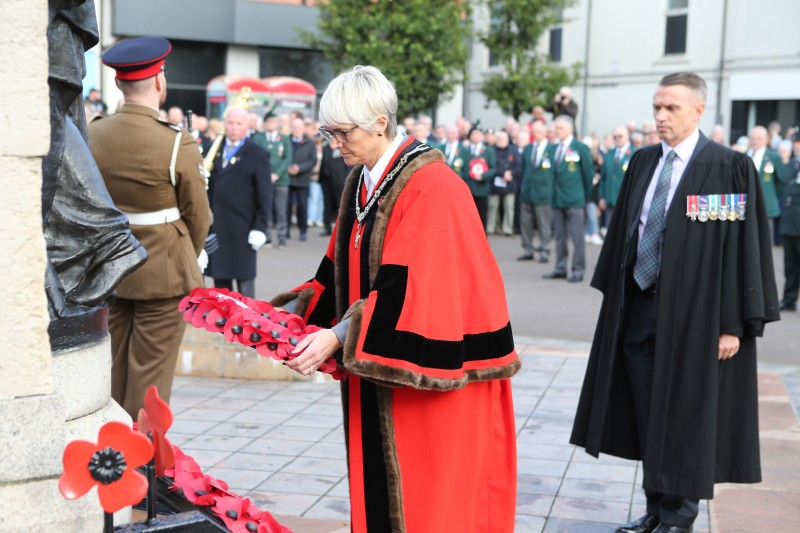
[[[314,279],[273,300],[323,329],[287,362],[342,383],[355,533],[514,530],[514,350],[505,290],[464,181],[397,133],[397,96],[355,67],[322,96],[353,166]]]

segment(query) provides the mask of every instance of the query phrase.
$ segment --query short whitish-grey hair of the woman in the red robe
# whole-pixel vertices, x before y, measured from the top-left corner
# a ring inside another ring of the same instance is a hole
[[[386,76],[371,66],[358,65],[339,74],[319,102],[323,126],[356,124],[374,132],[380,116],[386,117],[386,134],[393,139],[397,133],[397,93]]]

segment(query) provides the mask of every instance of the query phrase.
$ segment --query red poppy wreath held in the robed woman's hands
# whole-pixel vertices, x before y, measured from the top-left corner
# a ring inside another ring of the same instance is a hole
[[[293,348],[306,335],[322,329],[268,302],[216,287],[193,289],[181,300],[178,309],[194,327],[222,333],[228,342],[249,346],[260,355],[278,361],[297,357],[299,354],[293,354]],[[319,371],[337,380],[346,376],[333,359],[325,361]]]

